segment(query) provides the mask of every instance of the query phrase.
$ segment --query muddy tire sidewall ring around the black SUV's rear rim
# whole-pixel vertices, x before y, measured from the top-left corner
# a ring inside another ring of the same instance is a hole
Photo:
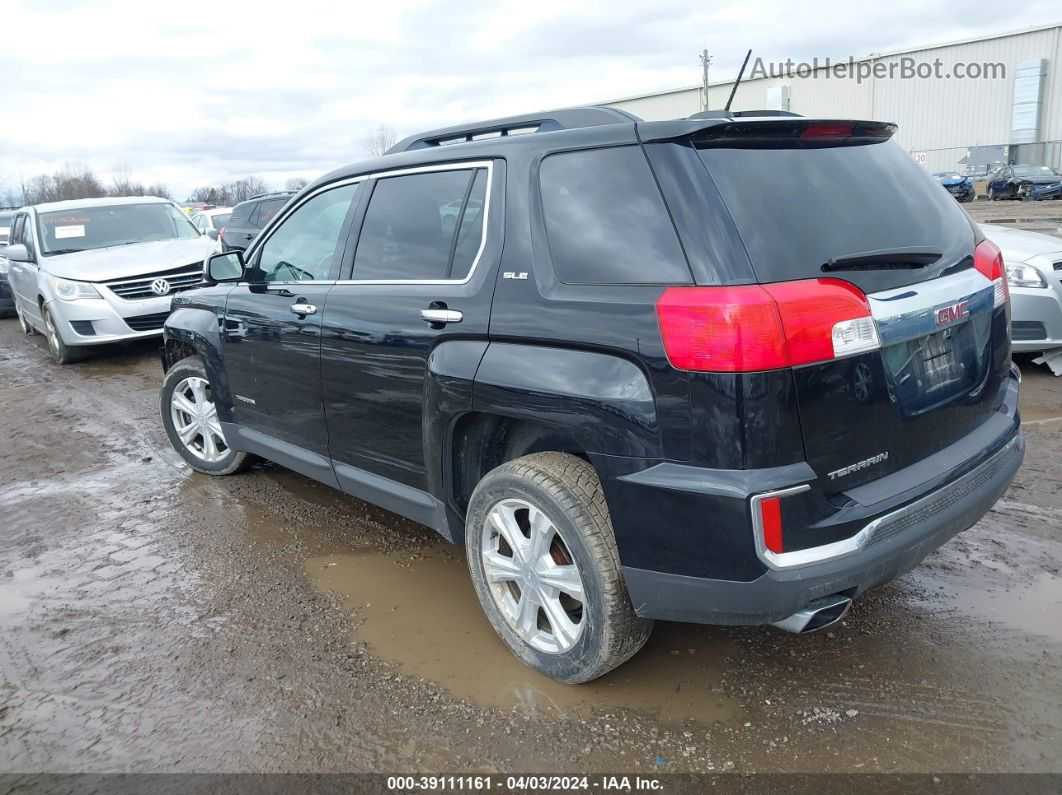
[[[480,553],[484,523],[491,508],[507,499],[520,499],[543,511],[561,532],[565,546],[579,567],[586,600],[583,602],[583,630],[576,645],[561,654],[539,652],[514,630],[506,620],[486,582]],[[473,585],[491,625],[506,645],[526,664],[554,679],[582,680],[587,669],[596,669],[601,650],[606,642],[602,637],[605,626],[603,611],[603,583],[597,563],[590,556],[582,534],[553,496],[536,483],[509,471],[487,474],[473,495],[465,531],[465,551]]]

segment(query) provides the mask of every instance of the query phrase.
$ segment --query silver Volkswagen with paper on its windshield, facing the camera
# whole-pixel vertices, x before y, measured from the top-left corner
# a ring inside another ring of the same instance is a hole
[[[93,345],[157,336],[175,293],[198,287],[213,241],[164,198],[83,198],[19,209],[7,246],[15,310],[59,364]]]

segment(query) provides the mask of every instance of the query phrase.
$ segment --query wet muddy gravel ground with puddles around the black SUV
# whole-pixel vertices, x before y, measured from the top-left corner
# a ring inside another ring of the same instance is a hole
[[[272,465],[192,473],[159,379],[155,344],[58,367],[0,322],[0,771],[1062,771],[1046,425],[994,511],[828,633],[658,624],[565,687],[428,530]]]

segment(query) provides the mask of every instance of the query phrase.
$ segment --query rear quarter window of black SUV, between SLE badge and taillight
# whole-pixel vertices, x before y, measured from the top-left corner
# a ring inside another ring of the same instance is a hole
[[[688,284],[686,257],[638,146],[550,155],[539,171],[549,250],[568,284]]]

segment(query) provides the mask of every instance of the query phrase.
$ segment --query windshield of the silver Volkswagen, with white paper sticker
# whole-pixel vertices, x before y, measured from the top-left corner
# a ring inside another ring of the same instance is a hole
[[[171,204],[119,204],[41,212],[37,230],[44,254],[72,254],[114,245],[199,237]]]

